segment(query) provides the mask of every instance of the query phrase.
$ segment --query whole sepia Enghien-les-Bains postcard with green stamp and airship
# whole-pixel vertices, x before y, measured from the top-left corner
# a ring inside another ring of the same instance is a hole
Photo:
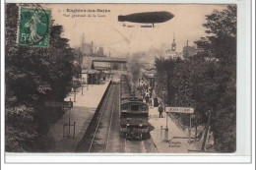
[[[5,4],[5,152],[237,152],[237,4]]]

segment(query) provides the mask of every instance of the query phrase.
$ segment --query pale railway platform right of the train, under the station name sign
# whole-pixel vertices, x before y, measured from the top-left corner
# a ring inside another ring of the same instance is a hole
[[[200,149],[199,142],[191,139],[189,143],[188,133],[182,131],[169,116],[167,116],[166,121],[166,113],[163,112],[162,115],[163,118],[160,118],[158,107],[150,108],[149,122],[154,127],[154,130],[151,131],[151,137],[159,153],[188,153],[189,150]],[[168,131],[165,131],[166,125]],[[165,132],[167,132],[167,138]],[[191,137],[194,137],[193,134]]]

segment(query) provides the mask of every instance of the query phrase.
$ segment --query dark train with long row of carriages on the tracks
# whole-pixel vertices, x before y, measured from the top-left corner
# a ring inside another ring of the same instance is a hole
[[[131,77],[120,76],[120,135],[126,139],[147,139],[150,132],[149,106],[133,87]]]

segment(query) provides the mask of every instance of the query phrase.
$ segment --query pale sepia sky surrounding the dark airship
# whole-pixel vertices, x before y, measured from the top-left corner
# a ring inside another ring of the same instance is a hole
[[[63,36],[70,39],[71,47],[79,46],[81,36],[85,34],[88,43],[94,41],[96,46],[102,46],[104,53],[111,52],[111,56],[122,56],[132,53],[145,52],[153,49],[167,49],[175,34],[177,51],[181,52],[186,41],[193,45],[193,41],[205,36],[206,15],[214,9],[223,10],[226,5],[198,5],[198,4],[44,4],[44,8],[51,9],[55,25],[62,25],[65,29]],[[68,10],[105,9],[110,12],[67,12]],[[142,24],[118,22],[118,15],[128,15],[140,12],[167,11],[174,18],[156,24],[155,28],[140,28]],[[65,17],[66,14],[66,17]],[[75,17],[72,15],[84,15]],[[70,15],[67,17],[67,15]],[[96,15],[96,17],[88,17]]]

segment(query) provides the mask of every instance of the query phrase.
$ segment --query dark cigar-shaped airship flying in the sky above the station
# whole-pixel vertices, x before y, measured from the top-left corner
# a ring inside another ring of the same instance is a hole
[[[118,22],[152,24],[154,27],[154,24],[167,22],[173,17],[173,14],[166,11],[134,13],[126,16],[118,16]],[[147,26],[142,26],[142,28],[146,27]]]

